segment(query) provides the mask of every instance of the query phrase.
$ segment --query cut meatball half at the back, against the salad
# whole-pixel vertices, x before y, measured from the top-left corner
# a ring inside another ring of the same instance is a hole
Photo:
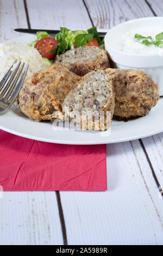
[[[84,76],[94,69],[110,67],[109,58],[103,49],[96,46],[82,46],[57,56],[55,63],[60,63],[78,76]]]

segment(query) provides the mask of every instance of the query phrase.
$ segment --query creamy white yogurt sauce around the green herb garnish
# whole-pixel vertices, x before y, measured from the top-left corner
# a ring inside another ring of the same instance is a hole
[[[155,36],[161,32],[163,32],[163,27],[153,26],[130,29],[129,31],[122,33],[120,42],[118,42],[117,45],[117,50],[130,54],[163,56],[163,48],[155,45],[146,46],[141,44],[139,40],[134,39],[135,34],[140,34],[142,36],[152,36],[152,38],[155,40]]]

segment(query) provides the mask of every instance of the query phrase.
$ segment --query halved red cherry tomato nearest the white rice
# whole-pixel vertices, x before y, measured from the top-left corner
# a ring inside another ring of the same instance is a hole
[[[47,38],[42,38],[36,42],[35,48],[40,52],[43,58],[52,59],[56,53],[51,51],[57,48],[58,42],[50,36]]]

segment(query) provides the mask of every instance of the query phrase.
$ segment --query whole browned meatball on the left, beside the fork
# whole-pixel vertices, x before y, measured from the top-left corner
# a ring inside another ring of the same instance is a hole
[[[62,110],[62,102],[80,79],[62,65],[36,72],[23,84],[18,96],[21,111],[36,121],[53,121],[53,112]]]

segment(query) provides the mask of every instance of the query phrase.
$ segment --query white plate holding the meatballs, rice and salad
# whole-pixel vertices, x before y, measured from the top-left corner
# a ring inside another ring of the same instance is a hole
[[[33,35],[25,35],[12,41],[29,43]],[[0,129],[37,141],[61,144],[105,144],[130,141],[163,131],[163,98],[146,117],[124,121],[112,121],[111,131],[54,130],[52,123],[30,120],[18,107],[12,107],[0,115]]]

